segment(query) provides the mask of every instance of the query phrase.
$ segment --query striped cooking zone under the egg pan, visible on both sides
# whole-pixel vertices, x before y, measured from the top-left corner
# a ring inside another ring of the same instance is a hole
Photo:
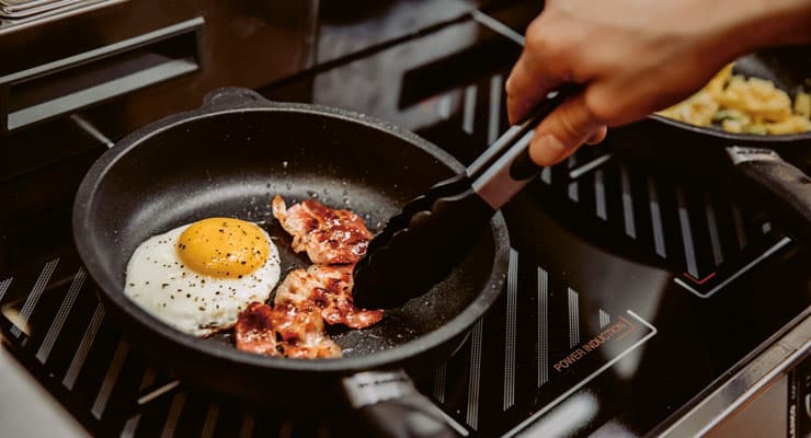
[[[11,285],[0,322],[12,353],[92,433],[124,437],[346,433],[349,425],[339,416],[328,415],[313,424],[311,417],[302,419],[282,406],[248,405],[178,384],[151,368],[122,338],[83,269],[62,264],[55,269],[56,265],[50,261],[41,266],[33,283],[0,283],[7,288]],[[49,273],[50,281],[43,285]],[[505,289],[495,309],[473,326],[460,351],[438,367],[433,378],[418,382],[475,434],[477,429],[482,435],[504,433],[539,407],[559,402],[555,399],[579,388],[589,372],[613,360],[589,358],[576,373],[560,368],[559,361],[576,350],[581,338],[591,338],[618,321],[635,323],[625,311],[583,309],[571,287],[522,260],[515,250],[511,251]],[[41,295],[36,304],[31,304],[32,293]],[[28,309],[28,319],[19,316],[24,309]],[[20,336],[13,336],[18,332]],[[646,328],[617,342],[631,348],[652,333]],[[541,387],[552,389],[538,399],[536,389]],[[502,403],[483,403],[492,397]]]

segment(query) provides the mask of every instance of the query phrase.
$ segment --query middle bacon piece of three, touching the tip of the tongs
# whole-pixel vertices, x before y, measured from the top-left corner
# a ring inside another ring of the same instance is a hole
[[[365,328],[382,319],[382,310],[357,309],[352,299],[353,265],[312,265],[307,270],[296,269],[276,289],[276,306],[290,303],[301,307],[311,303],[321,310],[328,324],[344,324]]]

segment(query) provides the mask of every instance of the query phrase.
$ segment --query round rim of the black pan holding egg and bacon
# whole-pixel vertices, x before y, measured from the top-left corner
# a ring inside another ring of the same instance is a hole
[[[170,325],[160,322],[150,313],[139,308],[123,293],[123,285],[118,285],[116,279],[106,275],[105,269],[101,269],[96,266],[98,257],[93,251],[93,245],[90,243],[90,237],[94,234],[90,227],[90,219],[92,216],[91,207],[93,206],[98,186],[118,160],[126,157],[139,145],[147,142],[149,139],[160,135],[161,132],[176,129],[178,127],[195,120],[244,112],[307,113],[361,124],[366,128],[377,129],[384,134],[408,141],[409,143],[430,153],[453,172],[458,173],[465,169],[462,164],[449,153],[404,128],[364,114],[323,105],[266,102],[259,105],[237,107],[210,108],[204,106],[187,113],[169,116],[128,135],[116,146],[105,151],[84,175],[79,186],[79,191],[77,192],[72,211],[73,241],[78,250],[79,257],[99,289],[99,293],[103,295],[105,298],[105,300],[102,301],[112,303],[112,306],[116,307],[117,310],[123,311],[128,315],[128,318],[133,319],[140,327],[151,332],[152,335],[161,336],[182,346],[183,348],[202,353],[217,359],[228,359],[242,365],[278,370],[351,373],[365,369],[390,367],[392,364],[398,364],[430,350],[433,347],[445,344],[470,327],[478,318],[484,314],[484,312],[500,296],[505,279],[510,244],[506,222],[504,221],[501,211],[498,211],[490,222],[494,242],[493,267],[487,283],[484,284],[483,290],[481,290],[480,293],[460,313],[438,328],[415,339],[380,351],[375,351],[369,355],[316,360],[275,358],[254,355],[240,351],[232,346],[207,342],[180,332]]]

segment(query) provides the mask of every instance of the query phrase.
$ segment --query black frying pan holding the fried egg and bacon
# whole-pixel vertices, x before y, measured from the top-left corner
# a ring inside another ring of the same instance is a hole
[[[273,195],[350,208],[374,231],[412,197],[462,170],[396,126],[222,89],[201,108],[146,126],[105,152],[79,187],[73,238],[112,321],[182,381],[283,403],[328,402],[345,393],[385,434],[447,435],[438,408],[398,370],[433,369],[500,295],[509,253],[500,214],[461,265],[427,293],[387,311],[369,328],[332,330],[344,350],[339,359],[265,357],[237,350],[228,336],[196,338],[141,310],[123,289],[136,246],[178,226],[213,216],[259,222],[279,249],[284,276],[310,263],[290,250],[289,235],[272,219]]]

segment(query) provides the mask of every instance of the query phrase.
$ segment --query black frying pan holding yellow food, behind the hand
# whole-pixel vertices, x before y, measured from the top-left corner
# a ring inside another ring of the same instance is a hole
[[[792,97],[811,78],[811,46],[772,49],[735,62],[734,72],[773,81]],[[798,56],[804,54],[803,56]],[[726,175],[744,201],[767,207],[793,238],[811,244],[811,131],[732,134],[660,115],[612,130],[612,145],[629,157],[684,178]]]

